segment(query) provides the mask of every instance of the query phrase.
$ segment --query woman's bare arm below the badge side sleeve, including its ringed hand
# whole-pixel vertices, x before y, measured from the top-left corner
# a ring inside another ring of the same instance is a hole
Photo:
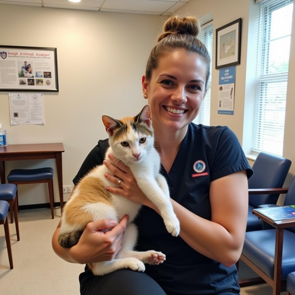
[[[113,160],[112,156],[109,158]],[[128,167],[125,166],[122,173],[109,161],[104,164],[115,175],[106,174],[106,178],[115,186],[118,177],[123,179],[121,187],[108,187],[110,192],[125,196],[159,213],[155,205],[140,191]],[[180,221],[180,236],[199,253],[225,266],[232,266],[240,258],[245,237],[248,212],[246,172],[235,172],[212,181],[209,196],[211,221],[199,217],[171,199]]]

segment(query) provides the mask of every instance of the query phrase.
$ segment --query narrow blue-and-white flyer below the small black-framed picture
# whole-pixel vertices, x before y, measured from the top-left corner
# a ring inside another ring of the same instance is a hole
[[[219,70],[218,114],[234,114],[236,67]]]

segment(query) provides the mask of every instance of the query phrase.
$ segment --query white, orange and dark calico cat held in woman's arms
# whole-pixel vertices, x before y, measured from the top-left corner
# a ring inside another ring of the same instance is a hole
[[[159,173],[160,156],[154,148],[150,106],[144,106],[135,117],[116,120],[104,115],[102,121],[109,134],[110,147],[106,157],[112,153],[130,168],[140,189],[158,207],[167,231],[177,236],[180,231],[179,221],[173,212],[167,182]],[[58,242],[63,247],[71,247],[77,244],[87,223],[104,218],[120,221],[128,214],[122,248],[116,258],[88,264],[91,271],[97,276],[122,268],[144,271],[144,263],[163,262],[165,255],[161,252],[133,251],[137,228],[132,221],[141,205],[107,191],[105,187],[114,184],[105,178],[105,173],[109,173],[109,170],[99,165],[80,180],[64,207]],[[154,254],[158,255],[158,259],[152,259]]]

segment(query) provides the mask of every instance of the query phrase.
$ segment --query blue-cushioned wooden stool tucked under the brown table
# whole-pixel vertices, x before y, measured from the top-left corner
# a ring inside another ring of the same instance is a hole
[[[53,169],[51,167],[39,169],[14,169],[7,176],[9,183],[15,185],[28,183],[47,183],[49,191],[51,217],[54,218]],[[18,194],[17,194],[18,205]]]

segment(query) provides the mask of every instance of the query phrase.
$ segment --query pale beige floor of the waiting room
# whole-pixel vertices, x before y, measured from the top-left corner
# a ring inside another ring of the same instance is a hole
[[[15,225],[9,224],[14,269],[10,270],[4,237],[0,226],[0,289],[9,295],[78,295],[78,275],[84,266],[60,259],[52,250],[51,237],[60,219],[60,209],[23,210],[19,212],[20,241]],[[240,276],[251,277],[252,272],[242,262]],[[267,285],[245,287],[241,295],[271,295]],[[286,294],[285,292],[282,294]],[[151,294],[152,295],[152,294]]]

